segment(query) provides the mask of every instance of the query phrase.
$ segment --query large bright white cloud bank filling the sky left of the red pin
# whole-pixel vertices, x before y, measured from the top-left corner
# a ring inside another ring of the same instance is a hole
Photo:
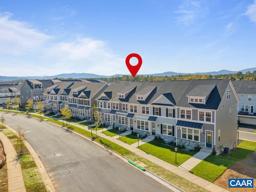
[[[57,40],[11,17],[0,14],[0,76],[124,73],[125,58],[112,54],[102,40]]]

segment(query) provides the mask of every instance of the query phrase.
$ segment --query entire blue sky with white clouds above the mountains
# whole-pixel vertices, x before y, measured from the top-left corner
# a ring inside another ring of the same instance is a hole
[[[0,76],[256,67],[256,0],[0,2]],[[136,59],[131,59],[136,64]]]

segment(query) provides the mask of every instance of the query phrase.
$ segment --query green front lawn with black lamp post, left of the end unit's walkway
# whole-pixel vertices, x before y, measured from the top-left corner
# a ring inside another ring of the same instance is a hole
[[[194,154],[196,154],[195,151],[185,151],[178,149],[177,152],[177,164],[175,163],[175,151],[174,148],[168,145],[165,145],[163,143],[160,143],[158,141],[150,141],[146,144],[143,144],[138,147],[140,150],[143,150],[157,158],[160,158],[170,164],[173,164],[175,166],[179,166],[182,163],[184,163],[186,160],[188,160],[190,157],[192,157]]]

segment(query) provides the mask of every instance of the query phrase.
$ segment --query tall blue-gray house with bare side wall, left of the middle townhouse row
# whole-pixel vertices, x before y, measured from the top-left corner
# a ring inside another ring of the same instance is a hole
[[[20,102],[23,106],[28,99],[34,101],[33,109],[38,108],[38,102],[43,100],[43,92],[59,80],[24,80],[20,86]]]

